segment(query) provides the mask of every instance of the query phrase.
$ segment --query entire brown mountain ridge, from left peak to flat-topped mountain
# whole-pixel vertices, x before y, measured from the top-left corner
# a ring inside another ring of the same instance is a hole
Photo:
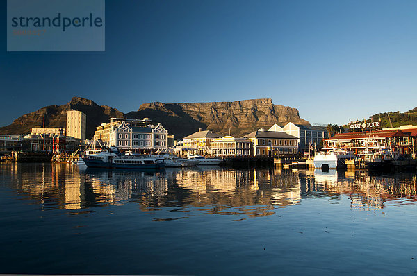
[[[92,100],[73,97],[64,105],[49,105],[35,112],[24,114],[15,119],[8,126],[0,127],[0,133],[18,135],[31,132],[31,128],[43,125],[47,128],[66,128],[66,112],[80,110],[87,115],[88,139],[94,135],[95,127],[108,122],[111,117],[129,119],[149,118],[161,122],[181,139],[198,130],[198,128],[212,130],[220,135],[240,137],[259,128],[268,128],[274,123],[309,124],[300,118],[296,108],[284,105],[274,105],[271,98],[259,98],[240,101],[222,101],[206,103],[142,103],[138,110],[124,114],[108,105],[97,105]]]

